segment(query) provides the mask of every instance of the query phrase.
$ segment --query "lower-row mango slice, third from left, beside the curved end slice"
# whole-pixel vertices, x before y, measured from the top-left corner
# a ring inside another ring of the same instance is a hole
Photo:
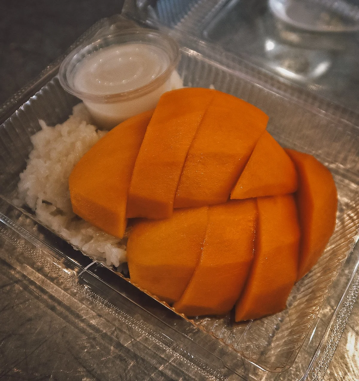
[[[300,230],[294,196],[259,197],[257,208],[254,262],[235,306],[237,322],[285,309],[297,279]]]

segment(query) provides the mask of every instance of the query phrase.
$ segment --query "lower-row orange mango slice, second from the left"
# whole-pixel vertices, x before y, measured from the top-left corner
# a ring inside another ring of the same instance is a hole
[[[174,308],[187,316],[222,315],[238,299],[253,259],[255,200],[230,201],[208,210],[203,250]]]

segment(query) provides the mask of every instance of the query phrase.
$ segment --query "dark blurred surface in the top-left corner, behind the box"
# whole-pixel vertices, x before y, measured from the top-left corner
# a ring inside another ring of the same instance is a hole
[[[0,104],[59,57],[123,0],[0,2]]]

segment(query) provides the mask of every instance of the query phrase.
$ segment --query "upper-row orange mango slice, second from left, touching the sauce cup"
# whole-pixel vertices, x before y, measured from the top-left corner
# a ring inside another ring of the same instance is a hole
[[[214,93],[204,88],[182,88],[161,96],[132,174],[128,217],[171,216],[188,149]]]

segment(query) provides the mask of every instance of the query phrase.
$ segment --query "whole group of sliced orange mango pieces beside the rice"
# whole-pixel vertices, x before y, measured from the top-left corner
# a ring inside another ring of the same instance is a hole
[[[188,316],[257,319],[286,307],[335,227],[314,157],[284,150],[257,107],[183,88],[116,126],[73,169],[73,211],[122,237],[132,283]]]

